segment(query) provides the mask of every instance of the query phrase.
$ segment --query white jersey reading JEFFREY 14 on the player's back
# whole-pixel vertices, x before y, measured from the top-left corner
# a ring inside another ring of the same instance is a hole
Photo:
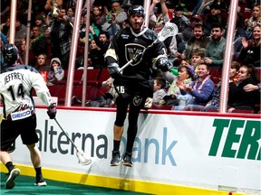
[[[14,70],[0,74],[0,94],[4,103],[4,116],[34,110],[32,88],[46,106],[53,101],[43,77],[36,70],[18,65]]]

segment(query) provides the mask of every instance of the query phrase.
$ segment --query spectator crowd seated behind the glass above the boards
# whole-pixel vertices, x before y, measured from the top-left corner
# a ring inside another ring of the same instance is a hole
[[[1,50],[10,38],[10,2],[1,1]],[[89,42],[88,67],[105,69],[104,54],[113,36],[130,25],[129,7],[143,5],[144,1],[92,0],[90,18],[86,3],[82,5],[75,69],[83,67],[85,42]],[[55,85],[70,66],[75,1],[33,1],[28,45],[27,4],[28,1],[17,1],[14,34],[14,44],[20,51],[17,63],[24,63],[29,48],[29,65],[43,72],[47,85]],[[167,72],[151,70],[151,88],[155,93],[152,105],[173,106],[174,110],[218,110],[229,7],[229,0],[151,0],[149,28],[160,32],[167,22],[179,28],[177,35],[164,41],[173,67]],[[90,20],[89,33],[86,33],[87,20]],[[228,112],[239,109],[260,113],[260,25],[260,1],[238,0]],[[0,55],[3,68],[1,51]]]

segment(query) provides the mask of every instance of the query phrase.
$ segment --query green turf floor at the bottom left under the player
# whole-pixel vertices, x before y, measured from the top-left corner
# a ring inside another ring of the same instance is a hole
[[[146,193],[138,193],[126,190],[114,190],[108,188],[98,188],[87,185],[74,184],[69,182],[45,180],[47,186],[39,187],[34,186],[34,177],[20,175],[15,180],[15,186],[12,190],[5,190],[6,174],[1,172],[1,189],[0,194],[17,194],[17,195],[47,195],[47,194],[63,194],[63,195],[97,195],[97,194],[123,194],[123,195],[135,195]]]

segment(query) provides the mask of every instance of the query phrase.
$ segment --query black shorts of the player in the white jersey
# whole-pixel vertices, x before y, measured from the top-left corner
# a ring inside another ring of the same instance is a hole
[[[19,135],[21,135],[23,144],[37,143],[38,136],[35,129],[35,115],[16,121],[3,120],[1,123],[1,151],[7,151]]]

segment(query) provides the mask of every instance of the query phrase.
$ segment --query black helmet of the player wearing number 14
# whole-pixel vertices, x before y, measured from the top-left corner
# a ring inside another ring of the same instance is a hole
[[[19,58],[19,51],[14,44],[5,44],[3,48],[3,57],[7,65],[13,65]]]

